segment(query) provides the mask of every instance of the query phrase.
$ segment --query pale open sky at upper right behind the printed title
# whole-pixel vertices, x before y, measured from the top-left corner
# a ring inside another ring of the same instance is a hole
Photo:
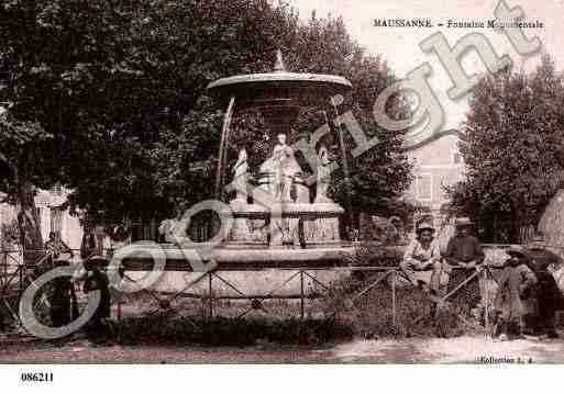
[[[533,70],[540,55],[522,57],[511,46],[505,34],[491,29],[446,29],[436,26],[438,22],[486,21],[494,19],[498,0],[287,0],[307,20],[316,10],[319,18],[331,14],[341,15],[349,33],[369,54],[380,54],[396,76],[403,78],[412,69],[429,63],[433,74],[429,82],[435,92],[446,115],[443,130],[458,128],[467,111],[467,97],[453,101],[446,94],[452,81],[435,54],[425,54],[419,43],[436,32],[442,32],[449,44],[454,46],[457,40],[471,32],[484,34],[498,54],[509,55],[518,67]],[[564,68],[564,0],[506,0],[509,8],[521,7],[526,21],[539,20],[543,29],[526,29],[527,37],[538,36],[542,50],[553,56],[556,68]],[[374,19],[429,18],[434,27],[375,27]],[[463,57],[462,65],[467,74],[484,72],[486,68],[474,53]]]

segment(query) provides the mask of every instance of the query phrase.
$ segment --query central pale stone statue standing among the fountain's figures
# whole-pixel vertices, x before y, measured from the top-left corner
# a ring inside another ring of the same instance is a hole
[[[270,193],[275,201],[291,201],[294,177],[301,172],[301,168],[296,161],[294,149],[286,144],[286,134],[278,134],[278,144],[274,147],[273,156],[261,166],[261,172],[272,177]]]

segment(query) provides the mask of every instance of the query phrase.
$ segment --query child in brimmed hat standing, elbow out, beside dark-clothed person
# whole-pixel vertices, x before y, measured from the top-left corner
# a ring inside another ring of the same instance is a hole
[[[496,335],[499,339],[521,337],[521,319],[523,316],[522,296],[537,283],[537,278],[527,266],[529,257],[519,248],[507,250],[509,259],[498,280],[498,293],[495,308],[498,313]]]

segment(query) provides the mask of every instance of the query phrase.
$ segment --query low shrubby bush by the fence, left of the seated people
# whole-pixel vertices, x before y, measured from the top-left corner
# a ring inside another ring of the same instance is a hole
[[[361,246],[349,262],[355,267],[397,267],[399,256],[394,248],[367,244]],[[356,335],[367,337],[456,337],[472,330],[456,315],[456,311],[463,306],[458,303],[464,303],[465,299],[455,297],[451,307],[435,311],[434,303],[427,294],[410,284],[396,285],[394,325],[389,277],[360,296],[354,305],[346,301],[355,297],[383,274],[353,271],[350,277],[332,283],[325,309],[339,311],[339,318],[353,327]]]

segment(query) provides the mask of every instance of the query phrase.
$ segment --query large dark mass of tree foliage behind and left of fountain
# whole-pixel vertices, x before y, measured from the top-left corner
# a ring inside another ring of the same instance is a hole
[[[178,202],[211,196],[223,109],[206,86],[270,70],[278,47],[290,70],[351,79],[355,115],[368,133],[383,133],[369,114],[394,77],[339,19],[302,24],[288,5],[266,0],[12,0],[0,19],[1,95],[10,103],[3,136],[12,144],[0,151],[24,153],[8,158],[20,180],[1,191],[22,206],[34,188],[55,182],[74,190],[73,207],[103,224],[162,217]],[[317,127],[308,116],[298,131]],[[243,139],[264,136],[256,116],[237,122],[247,122],[239,126]],[[36,132],[21,139],[16,128],[31,125]],[[385,205],[409,170],[400,133],[381,137],[378,154],[357,159],[355,184],[356,195],[369,192]],[[269,146],[263,138],[256,148]],[[14,184],[26,184],[25,193]]]

